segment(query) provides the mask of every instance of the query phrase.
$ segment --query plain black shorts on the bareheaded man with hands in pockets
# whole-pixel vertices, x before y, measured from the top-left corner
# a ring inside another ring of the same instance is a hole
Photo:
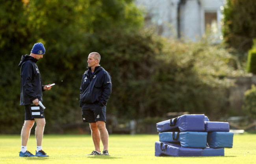
[[[106,106],[99,103],[84,104],[82,107],[83,122],[94,123],[97,121],[106,122]]]

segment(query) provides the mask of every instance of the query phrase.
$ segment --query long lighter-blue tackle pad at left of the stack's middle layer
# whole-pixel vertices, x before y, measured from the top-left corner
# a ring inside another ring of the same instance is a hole
[[[184,148],[206,148],[207,132],[162,132],[159,133],[161,142],[179,142]]]

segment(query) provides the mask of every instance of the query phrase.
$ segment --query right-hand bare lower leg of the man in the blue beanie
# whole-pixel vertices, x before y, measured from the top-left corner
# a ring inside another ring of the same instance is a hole
[[[37,124],[35,128],[35,139],[37,141],[37,146],[42,146],[43,133],[45,129],[45,118],[35,118]]]

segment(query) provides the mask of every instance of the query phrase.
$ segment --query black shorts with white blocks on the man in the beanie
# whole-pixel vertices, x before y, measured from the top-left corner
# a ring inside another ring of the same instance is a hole
[[[34,104],[25,106],[25,120],[34,120],[34,118],[45,118],[44,109]]]

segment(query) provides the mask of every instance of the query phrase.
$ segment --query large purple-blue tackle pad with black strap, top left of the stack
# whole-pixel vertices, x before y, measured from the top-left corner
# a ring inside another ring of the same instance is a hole
[[[158,122],[158,132],[164,131],[204,131],[204,121],[209,120],[204,115],[182,115],[170,120]]]

